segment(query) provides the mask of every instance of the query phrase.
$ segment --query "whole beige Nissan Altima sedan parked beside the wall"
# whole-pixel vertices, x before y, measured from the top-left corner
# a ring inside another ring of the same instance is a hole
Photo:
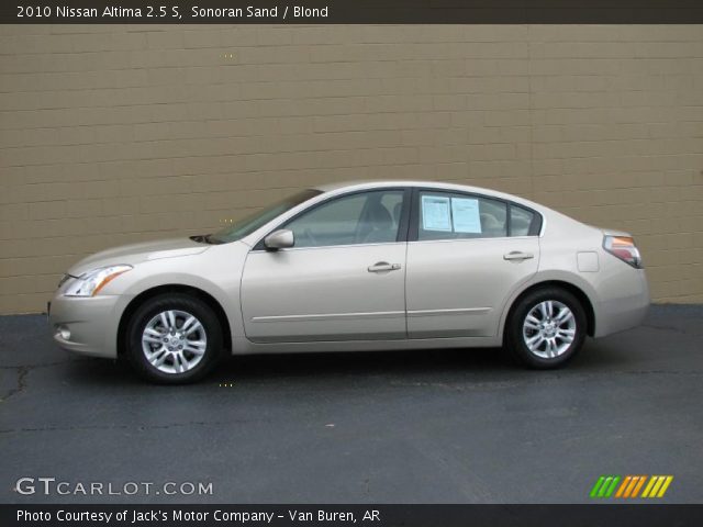
[[[555,368],[648,305],[627,233],[492,190],[386,181],[90,256],[60,281],[49,325],[65,349],[183,383],[224,352],[505,346]]]

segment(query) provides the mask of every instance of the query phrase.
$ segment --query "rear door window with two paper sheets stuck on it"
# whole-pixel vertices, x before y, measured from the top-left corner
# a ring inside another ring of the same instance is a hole
[[[507,236],[507,204],[470,194],[420,192],[417,239]]]

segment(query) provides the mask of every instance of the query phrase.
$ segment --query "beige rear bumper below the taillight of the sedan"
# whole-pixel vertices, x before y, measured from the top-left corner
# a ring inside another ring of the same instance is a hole
[[[604,288],[595,317],[595,337],[636,327],[649,311],[649,285],[643,269],[620,276],[616,284]]]

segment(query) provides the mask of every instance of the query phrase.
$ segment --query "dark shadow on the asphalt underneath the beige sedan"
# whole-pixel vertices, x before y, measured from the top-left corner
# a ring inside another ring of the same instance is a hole
[[[401,351],[297,352],[233,356],[225,358],[202,384],[233,382],[324,382],[339,378],[391,377],[398,380],[447,378],[465,380],[516,379],[524,375],[578,375],[620,370],[632,363],[632,352],[606,340],[588,340],[567,367],[531,371],[501,348],[422,349]],[[70,380],[80,384],[146,385],[125,360],[81,359],[71,361]],[[467,377],[468,375],[468,377]]]

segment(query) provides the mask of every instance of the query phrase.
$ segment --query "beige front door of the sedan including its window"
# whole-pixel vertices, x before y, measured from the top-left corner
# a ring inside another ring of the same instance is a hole
[[[256,343],[405,338],[410,191],[355,192],[277,228],[293,247],[247,256],[241,300]]]

